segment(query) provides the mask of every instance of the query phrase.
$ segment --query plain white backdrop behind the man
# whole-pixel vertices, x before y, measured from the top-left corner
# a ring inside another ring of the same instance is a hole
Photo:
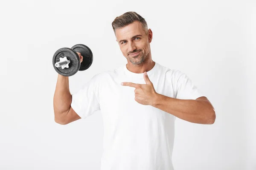
[[[100,169],[102,114],[55,123],[52,57],[79,43],[93,51],[71,94],[125,65],[111,23],[127,11],[151,28],[152,59],[187,74],[215,108],[213,125],[177,118],[175,170],[256,170],[254,0],[1,1],[0,169]]]

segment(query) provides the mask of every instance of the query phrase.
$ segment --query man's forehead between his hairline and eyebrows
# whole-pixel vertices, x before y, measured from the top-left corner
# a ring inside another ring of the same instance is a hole
[[[143,29],[142,24],[139,21],[134,21],[133,23],[125,26],[123,28],[116,29],[116,39],[128,39],[133,37],[134,35],[143,35],[145,31]]]

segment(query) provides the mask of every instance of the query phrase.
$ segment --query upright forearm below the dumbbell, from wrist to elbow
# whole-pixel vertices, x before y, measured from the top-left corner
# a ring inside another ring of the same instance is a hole
[[[56,89],[53,97],[55,118],[67,113],[70,109],[72,96],[69,90],[69,79],[58,74]]]

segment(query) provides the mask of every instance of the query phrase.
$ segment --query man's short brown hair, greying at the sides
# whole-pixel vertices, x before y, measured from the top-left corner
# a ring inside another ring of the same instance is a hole
[[[112,22],[112,28],[114,33],[116,34],[116,29],[123,28],[125,26],[128,26],[129,24],[133,23],[134,21],[139,21],[144,30],[145,33],[148,32],[148,25],[147,22],[143,17],[141,17],[139,14],[137,14],[134,11],[125,12],[124,14],[120,15],[119,17],[116,17],[115,20]]]

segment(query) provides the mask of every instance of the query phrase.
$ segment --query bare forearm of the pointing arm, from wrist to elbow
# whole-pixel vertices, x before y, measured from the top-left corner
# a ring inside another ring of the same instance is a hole
[[[175,99],[157,94],[153,106],[192,123],[212,124],[215,120],[212,105],[204,100]]]

